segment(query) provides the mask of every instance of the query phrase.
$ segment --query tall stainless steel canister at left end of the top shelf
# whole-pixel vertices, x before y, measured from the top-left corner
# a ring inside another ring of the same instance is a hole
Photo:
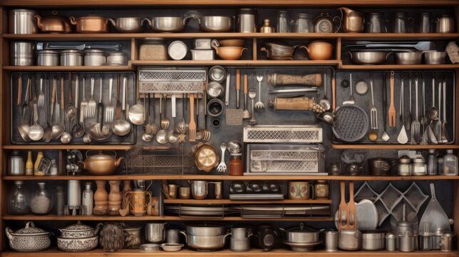
[[[36,34],[36,11],[12,9],[8,12],[8,31],[11,34]]]

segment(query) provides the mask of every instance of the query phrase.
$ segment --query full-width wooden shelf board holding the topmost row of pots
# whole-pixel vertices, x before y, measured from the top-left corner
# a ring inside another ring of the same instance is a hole
[[[4,39],[39,41],[88,41],[163,38],[163,39],[338,39],[344,40],[446,40],[459,38],[458,33],[106,33],[106,34],[4,34]]]

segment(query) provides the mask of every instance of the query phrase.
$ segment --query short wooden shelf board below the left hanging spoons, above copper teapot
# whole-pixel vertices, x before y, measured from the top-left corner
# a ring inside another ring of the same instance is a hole
[[[129,150],[135,148],[132,145],[72,145],[72,144],[24,144],[24,145],[6,145],[2,146],[3,149],[8,150],[66,150],[66,149],[79,149],[79,150]]]

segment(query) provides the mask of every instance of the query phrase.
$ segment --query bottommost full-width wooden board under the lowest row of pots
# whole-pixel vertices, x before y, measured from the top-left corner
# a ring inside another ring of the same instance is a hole
[[[343,256],[343,257],[354,257],[354,256],[405,256],[405,257],[418,257],[418,256],[431,256],[431,257],[446,257],[446,256],[458,256],[458,251],[452,252],[441,252],[441,251],[415,251],[412,253],[402,253],[400,251],[336,251],[336,252],[327,252],[323,250],[316,251],[291,251],[287,248],[277,248],[272,251],[263,251],[262,249],[253,248],[251,251],[245,252],[235,252],[230,251],[229,249],[224,249],[221,251],[193,251],[187,248],[184,248],[181,251],[177,252],[166,252],[158,251],[154,253],[143,253],[138,250],[123,249],[119,252],[106,253],[102,249],[95,249],[93,251],[86,252],[72,252],[66,253],[64,251],[59,251],[58,249],[51,248],[46,251],[36,252],[36,253],[19,253],[14,251],[5,251],[1,253],[1,256],[4,257],[56,257],[56,256],[123,256],[123,257],[135,257],[135,256],[155,256],[155,257],[170,257],[170,256],[212,256],[212,257],[221,257],[221,256],[240,256],[240,257],[265,257],[265,256]]]

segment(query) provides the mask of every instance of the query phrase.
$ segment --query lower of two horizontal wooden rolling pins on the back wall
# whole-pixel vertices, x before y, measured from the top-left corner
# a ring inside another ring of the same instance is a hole
[[[268,105],[276,111],[314,111],[318,114],[325,110],[316,100],[309,97],[275,97]]]

